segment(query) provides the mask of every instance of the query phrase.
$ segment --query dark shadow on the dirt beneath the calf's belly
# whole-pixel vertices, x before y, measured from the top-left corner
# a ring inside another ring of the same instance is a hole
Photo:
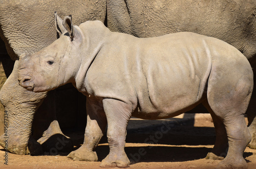
[[[137,120],[136,123],[142,123]],[[165,129],[164,129],[165,127]],[[164,132],[162,132],[164,129]],[[126,146],[125,152],[132,162],[168,162],[188,161],[205,158],[211,148],[184,147],[198,145],[212,145],[215,143],[215,129],[212,127],[194,127],[194,122],[184,122],[172,125],[168,130],[163,124],[127,130],[126,143],[139,145]],[[83,143],[83,133],[65,133],[74,143],[75,150]],[[100,144],[107,143],[106,134]],[[150,145],[150,146],[148,146]],[[109,153],[107,144],[100,145],[95,150],[99,161]],[[67,154],[63,154],[67,155]]]

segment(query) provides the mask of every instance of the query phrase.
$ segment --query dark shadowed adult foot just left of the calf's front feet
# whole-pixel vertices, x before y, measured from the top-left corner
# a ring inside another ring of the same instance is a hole
[[[46,155],[57,155],[58,152],[71,152],[73,150],[72,140],[63,134],[54,134],[50,137],[45,136],[37,140],[41,143],[42,150]]]

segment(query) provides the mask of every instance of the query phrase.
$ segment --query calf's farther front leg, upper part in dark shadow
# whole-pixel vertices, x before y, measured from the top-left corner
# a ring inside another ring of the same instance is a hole
[[[102,103],[87,98],[87,126],[82,146],[71,152],[68,157],[79,161],[98,161],[93,150],[103,136],[106,127],[106,116]]]

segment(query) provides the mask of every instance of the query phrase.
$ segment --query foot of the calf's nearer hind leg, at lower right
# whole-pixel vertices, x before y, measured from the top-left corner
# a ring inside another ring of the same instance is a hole
[[[225,158],[222,160],[217,168],[247,168],[247,163],[244,158],[241,159],[232,159],[232,158]]]

